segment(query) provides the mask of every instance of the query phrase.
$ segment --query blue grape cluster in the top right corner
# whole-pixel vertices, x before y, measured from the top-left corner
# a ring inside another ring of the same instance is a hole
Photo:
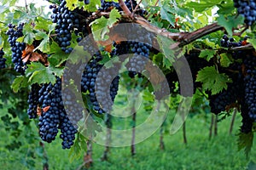
[[[238,14],[245,17],[247,26],[252,26],[256,20],[256,2],[254,0],[233,0],[234,6],[237,8]]]

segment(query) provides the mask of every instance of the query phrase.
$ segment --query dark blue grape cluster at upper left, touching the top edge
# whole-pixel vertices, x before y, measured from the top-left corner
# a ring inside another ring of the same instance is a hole
[[[55,27],[55,33],[57,34],[56,42],[58,42],[62,51],[69,54],[73,51],[73,48],[70,47],[73,31],[76,35],[80,34],[77,41],[80,41],[83,36],[88,34],[86,29],[88,24],[81,24],[84,21],[81,17],[86,18],[89,16],[89,13],[79,8],[70,11],[66,4],[65,0],[61,0],[59,6],[50,5],[49,8],[52,8],[53,11],[51,15],[52,22],[57,24]]]

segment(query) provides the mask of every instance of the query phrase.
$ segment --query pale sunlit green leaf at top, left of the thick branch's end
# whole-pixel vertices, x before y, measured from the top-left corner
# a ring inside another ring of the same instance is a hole
[[[119,14],[119,11],[114,8],[111,10],[108,19],[102,16],[101,18],[91,22],[90,26],[92,34],[96,41],[108,40],[107,34],[109,32],[109,28],[111,28],[113,24],[119,20],[120,17],[121,15]]]

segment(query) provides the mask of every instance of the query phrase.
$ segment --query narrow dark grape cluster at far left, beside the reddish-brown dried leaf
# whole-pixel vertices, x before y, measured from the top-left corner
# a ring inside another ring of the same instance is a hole
[[[8,37],[8,42],[11,46],[12,51],[12,62],[15,64],[15,71],[24,74],[26,70],[26,63],[22,61],[22,51],[26,48],[25,42],[16,42],[19,37],[23,36],[24,24],[20,24],[19,26],[13,26],[9,24],[9,30],[6,32]]]

